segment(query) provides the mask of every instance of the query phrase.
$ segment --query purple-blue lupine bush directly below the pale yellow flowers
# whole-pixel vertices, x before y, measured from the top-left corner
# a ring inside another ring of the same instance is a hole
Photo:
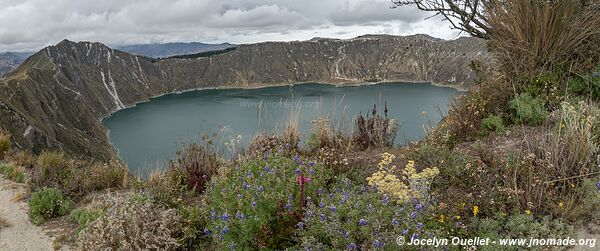
[[[399,236],[407,241],[440,237],[429,231],[430,213],[415,199],[397,204],[348,179],[312,198],[296,225],[302,250],[395,250]]]

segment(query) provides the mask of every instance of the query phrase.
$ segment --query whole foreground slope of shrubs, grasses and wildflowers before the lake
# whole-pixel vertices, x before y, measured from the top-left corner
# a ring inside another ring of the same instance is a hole
[[[10,151],[2,135],[4,175],[29,184],[32,221],[69,214],[71,241],[85,250],[421,250],[396,240],[575,238],[600,222],[600,16],[579,1],[504,2],[502,15],[486,14],[497,66],[474,62],[477,86],[410,146],[390,144],[398,124],[386,107],[359,117],[349,135],[324,118],[306,147],[293,116],[248,149],[228,141],[231,158],[207,137],[147,180],[119,163]]]

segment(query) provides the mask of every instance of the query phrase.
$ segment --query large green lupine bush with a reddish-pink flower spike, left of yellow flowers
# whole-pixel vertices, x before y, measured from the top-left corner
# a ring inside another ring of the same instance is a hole
[[[326,169],[282,154],[248,160],[216,176],[207,190],[210,212],[205,234],[217,250],[231,245],[248,249],[284,249],[302,218],[302,204],[315,198],[317,188],[329,179]],[[298,179],[310,178],[303,185]]]

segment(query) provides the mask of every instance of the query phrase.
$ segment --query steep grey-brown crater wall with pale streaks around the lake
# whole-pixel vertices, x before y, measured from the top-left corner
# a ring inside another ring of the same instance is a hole
[[[196,59],[155,60],[100,43],[62,41],[0,79],[0,127],[19,148],[116,157],[101,120],[151,97],[210,87],[297,82],[434,82],[465,88],[469,64],[487,59],[477,39],[363,36],[240,45]]]

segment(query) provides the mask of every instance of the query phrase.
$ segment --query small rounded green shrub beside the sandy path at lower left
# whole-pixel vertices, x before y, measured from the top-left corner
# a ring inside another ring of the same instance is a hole
[[[29,200],[29,218],[36,225],[66,215],[70,209],[71,201],[56,188],[43,188],[33,193]]]

